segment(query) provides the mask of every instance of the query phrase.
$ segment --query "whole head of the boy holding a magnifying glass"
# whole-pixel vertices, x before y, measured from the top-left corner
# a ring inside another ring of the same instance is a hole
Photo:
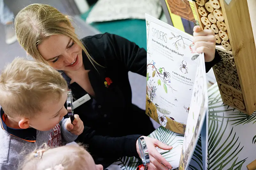
[[[67,88],[52,67],[16,58],[0,75],[0,105],[8,122],[17,123],[17,128],[47,131],[67,114]]]

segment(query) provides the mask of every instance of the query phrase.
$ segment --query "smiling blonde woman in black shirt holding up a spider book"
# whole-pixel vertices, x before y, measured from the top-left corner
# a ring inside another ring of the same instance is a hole
[[[154,131],[145,110],[132,104],[128,71],[146,76],[147,52],[120,36],[104,33],[79,40],[70,19],[44,4],[31,4],[15,18],[20,45],[39,62],[47,63],[62,76],[75,99],[91,99],[75,109],[84,122],[78,141],[89,144],[96,164],[107,167],[121,156],[139,158],[137,139]],[[133,30],[134,31],[134,30]],[[207,71],[220,60],[215,57],[211,30],[195,27],[197,52],[205,53]],[[211,61],[211,62],[210,62]],[[156,139],[144,137],[150,155],[149,169],[171,169],[156,151],[172,149]]]

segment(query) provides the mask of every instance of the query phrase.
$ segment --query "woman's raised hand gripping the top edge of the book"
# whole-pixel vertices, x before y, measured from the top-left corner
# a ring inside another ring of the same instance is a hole
[[[194,44],[197,53],[204,53],[205,62],[210,62],[215,56],[216,38],[212,30],[202,30],[200,26],[193,29]]]

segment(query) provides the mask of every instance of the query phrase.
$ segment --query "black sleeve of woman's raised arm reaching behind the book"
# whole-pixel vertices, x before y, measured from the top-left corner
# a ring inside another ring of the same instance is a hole
[[[115,57],[114,60],[121,61],[127,71],[147,76],[147,51],[144,48],[139,48],[134,42],[115,34],[105,33],[105,36],[107,36],[106,44],[111,46],[109,47],[111,53],[114,53],[111,55]],[[206,73],[219,62],[220,55],[215,51],[214,59],[211,62],[205,62]]]

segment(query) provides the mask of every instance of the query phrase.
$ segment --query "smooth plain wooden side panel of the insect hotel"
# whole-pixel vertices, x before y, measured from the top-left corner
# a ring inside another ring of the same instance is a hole
[[[248,113],[256,109],[256,48],[247,0],[220,1]]]

